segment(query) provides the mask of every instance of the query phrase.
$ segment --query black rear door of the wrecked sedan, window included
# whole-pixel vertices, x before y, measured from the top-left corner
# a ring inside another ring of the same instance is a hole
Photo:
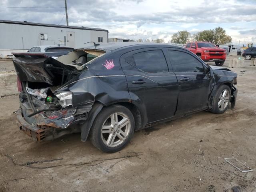
[[[178,82],[169,71],[162,48],[144,48],[121,56],[133,102],[145,112],[147,122],[174,116],[178,100]]]

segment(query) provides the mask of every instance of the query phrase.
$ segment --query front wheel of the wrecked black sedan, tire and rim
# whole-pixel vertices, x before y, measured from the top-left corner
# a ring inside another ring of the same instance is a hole
[[[227,108],[228,104],[230,102],[230,87],[227,85],[222,85],[220,88],[216,91],[216,94],[213,98],[213,105],[211,112],[216,114],[222,114],[224,113]]]

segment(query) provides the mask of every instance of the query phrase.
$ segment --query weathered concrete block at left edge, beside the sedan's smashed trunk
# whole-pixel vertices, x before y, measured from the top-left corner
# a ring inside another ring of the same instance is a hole
[[[0,96],[18,94],[15,72],[0,72]]]

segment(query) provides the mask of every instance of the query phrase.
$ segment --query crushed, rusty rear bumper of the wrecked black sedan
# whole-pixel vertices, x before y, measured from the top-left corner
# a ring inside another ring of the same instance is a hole
[[[54,111],[48,118],[42,118],[40,114],[37,114],[35,115],[35,124],[28,123],[26,121],[27,116],[24,118],[26,114],[22,110],[18,110],[16,112],[17,124],[20,130],[32,137],[35,141],[53,140],[66,134],[81,132],[81,126],[78,126],[78,124],[81,124],[87,119],[88,112],[91,108],[92,104],[89,104],[80,108]],[[68,112],[63,114],[63,111]]]

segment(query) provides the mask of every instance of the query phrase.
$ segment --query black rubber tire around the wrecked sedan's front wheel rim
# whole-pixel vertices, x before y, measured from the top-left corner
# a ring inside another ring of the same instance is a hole
[[[216,113],[216,114],[222,114],[224,113],[227,109],[228,109],[228,104],[226,105],[226,107],[224,109],[220,109],[218,106],[218,102],[220,101],[220,94],[224,91],[227,90],[228,91],[228,104],[230,102],[230,96],[231,96],[231,90],[230,87],[227,85],[221,85],[218,90],[216,91],[214,98],[213,98],[213,103],[212,103],[212,109],[210,110],[210,112],[212,113]]]

